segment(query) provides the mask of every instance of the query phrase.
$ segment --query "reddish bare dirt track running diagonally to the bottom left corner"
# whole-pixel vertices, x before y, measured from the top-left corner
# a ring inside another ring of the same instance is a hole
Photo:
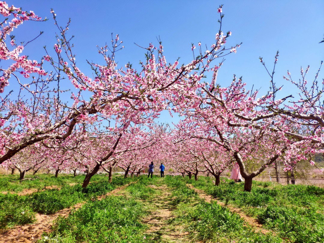
[[[135,181],[134,181],[135,182]],[[134,183],[131,182],[131,183]],[[99,196],[98,200],[102,200],[107,196],[116,194],[117,192],[123,190],[125,187],[131,183],[116,188],[105,195]],[[67,217],[72,209],[80,208],[83,203],[77,203],[70,208],[65,208],[58,211],[55,214],[36,214],[36,221],[33,224],[16,226],[15,228],[9,229],[6,232],[0,232],[0,243],[32,243],[39,239],[43,232],[51,231],[53,225],[53,220],[55,220],[59,215]]]

